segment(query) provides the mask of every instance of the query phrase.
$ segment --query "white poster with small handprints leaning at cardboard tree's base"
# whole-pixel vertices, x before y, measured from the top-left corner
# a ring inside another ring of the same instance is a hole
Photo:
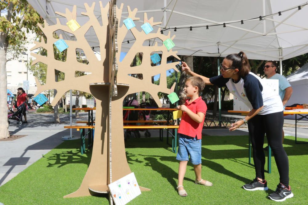
[[[141,194],[134,172],[108,184],[115,204],[127,204]]]

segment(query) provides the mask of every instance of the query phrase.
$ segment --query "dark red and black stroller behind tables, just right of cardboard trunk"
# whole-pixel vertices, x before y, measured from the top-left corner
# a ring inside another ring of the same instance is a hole
[[[123,103],[124,107],[138,108],[138,101],[132,99]],[[139,110],[123,110],[123,120],[138,120]],[[129,125],[136,125],[136,123],[129,123]],[[124,139],[130,137],[140,138],[140,133],[137,129],[126,129],[124,132]]]

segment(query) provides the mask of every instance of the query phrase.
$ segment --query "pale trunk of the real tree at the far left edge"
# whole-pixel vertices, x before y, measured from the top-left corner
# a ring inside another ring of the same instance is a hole
[[[0,139],[7,138],[9,124],[7,123],[7,91],[6,91],[6,50],[8,42],[0,32]]]

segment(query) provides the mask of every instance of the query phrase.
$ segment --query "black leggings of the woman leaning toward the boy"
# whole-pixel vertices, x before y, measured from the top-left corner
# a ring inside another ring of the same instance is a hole
[[[265,154],[263,151],[264,134],[272,149],[280,175],[280,183],[289,186],[289,160],[282,147],[283,112],[267,115],[256,115],[248,121],[249,137],[253,147],[253,162],[256,177],[265,179],[264,165]]]

